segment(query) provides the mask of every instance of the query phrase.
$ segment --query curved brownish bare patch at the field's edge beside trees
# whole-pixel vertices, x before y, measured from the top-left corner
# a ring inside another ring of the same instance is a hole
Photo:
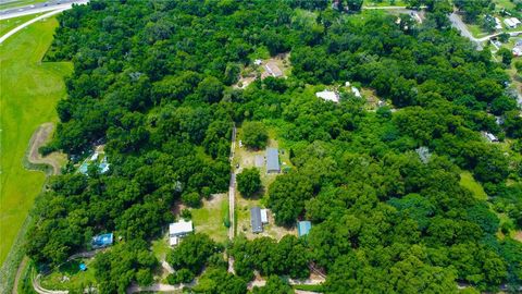
[[[52,174],[60,174],[61,162],[66,161],[66,156],[62,152],[52,152],[42,157],[38,152],[38,148],[50,140],[53,131],[53,123],[44,123],[36,130],[29,140],[27,160],[33,164],[50,166],[52,168]]]

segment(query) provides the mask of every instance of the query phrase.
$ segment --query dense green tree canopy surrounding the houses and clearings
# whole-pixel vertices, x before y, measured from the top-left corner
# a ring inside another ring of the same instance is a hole
[[[307,278],[313,266],[324,293],[517,292],[522,117],[508,74],[450,28],[444,1],[422,24],[356,13],[359,2],[92,0],[63,12],[46,59],[74,72],[44,149],[71,162],[37,198],[28,255],[52,268],[114,232],[95,260],[100,293],[150,284],[150,242],[176,219],[173,205],[226,192],[233,125],[256,122],[262,134],[247,144],[264,147],[271,130],[294,167],[268,187],[268,207],[282,226],[311,220],[310,234],[231,244],[195,234],[167,256],[172,283],[199,277],[197,293],[246,293],[257,271],[268,284],[253,293],[291,293],[277,277]],[[256,59],[281,53],[287,77],[233,86]],[[313,95],[348,81],[387,102],[369,110],[343,89],[338,103]],[[100,143],[110,171],[78,173],[73,164]],[[460,184],[465,171],[487,199]]]

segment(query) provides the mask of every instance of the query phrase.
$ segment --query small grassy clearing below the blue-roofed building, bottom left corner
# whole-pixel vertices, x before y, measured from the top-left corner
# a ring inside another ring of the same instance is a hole
[[[86,287],[96,285],[95,269],[92,268],[94,258],[91,259],[75,259],[69,261],[49,275],[40,279],[40,284],[48,290],[70,290],[83,291]],[[84,262],[87,266],[86,271],[79,270],[79,264]]]

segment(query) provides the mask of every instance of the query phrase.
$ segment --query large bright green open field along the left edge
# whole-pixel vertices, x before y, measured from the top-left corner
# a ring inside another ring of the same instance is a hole
[[[0,264],[3,264],[45,174],[27,171],[23,158],[33,132],[55,122],[71,63],[40,63],[52,41],[55,19],[32,24],[0,45]]]

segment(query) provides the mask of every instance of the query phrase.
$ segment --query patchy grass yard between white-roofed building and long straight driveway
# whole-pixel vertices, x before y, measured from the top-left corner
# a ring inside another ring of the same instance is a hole
[[[228,213],[228,194],[214,194],[210,200],[204,199],[200,208],[191,208],[194,230],[204,233],[219,243],[228,238],[225,217]]]

